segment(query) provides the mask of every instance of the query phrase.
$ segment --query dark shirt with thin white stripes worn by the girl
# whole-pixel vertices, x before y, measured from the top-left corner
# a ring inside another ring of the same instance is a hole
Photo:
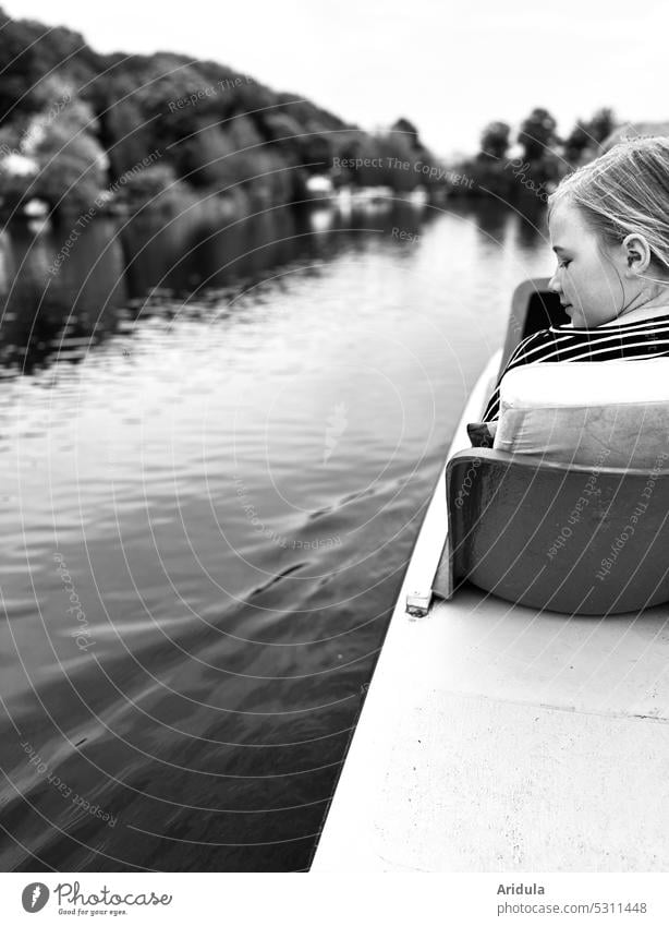
[[[497,381],[483,417],[484,422],[499,418],[499,384],[509,370],[525,363],[574,363],[596,360],[648,360],[669,357],[669,314],[598,328],[572,328],[557,325],[521,341]]]

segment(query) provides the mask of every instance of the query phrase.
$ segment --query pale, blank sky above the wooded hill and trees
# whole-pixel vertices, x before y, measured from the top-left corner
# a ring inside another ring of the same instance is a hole
[[[666,121],[666,0],[0,0],[97,51],[179,51],[296,93],[364,129],[400,116],[435,154],[536,106],[567,134],[601,106]]]

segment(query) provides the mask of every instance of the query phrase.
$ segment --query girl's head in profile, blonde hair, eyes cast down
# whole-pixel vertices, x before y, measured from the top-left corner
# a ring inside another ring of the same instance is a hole
[[[550,288],[575,328],[669,305],[669,139],[620,142],[548,199]],[[667,310],[669,313],[669,309]]]

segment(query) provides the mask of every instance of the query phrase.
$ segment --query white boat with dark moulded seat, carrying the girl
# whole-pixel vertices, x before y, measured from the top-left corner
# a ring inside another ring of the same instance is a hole
[[[546,279],[516,289],[506,342],[467,399],[361,696],[314,873],[667,869],[662,548],[637,531],[627,548],[637,577],[630,584],[621,567],[593,600],[593,561],[585,570],[579,561],[587,544],[555,557],[574,567],[567,579],[556,566],[533,585],[532,531],[540,549],[569,513],[564,486],[592,467],[473,448],[467,436],[515,345],[567,321]],[[498,491],[500,467],[508,492]],[[603,466],[597,478],[615,530],[621,500],[648,472]],[[667,520],[669,471],[655,486]],[[666,541],[660,520],[653,530]]]

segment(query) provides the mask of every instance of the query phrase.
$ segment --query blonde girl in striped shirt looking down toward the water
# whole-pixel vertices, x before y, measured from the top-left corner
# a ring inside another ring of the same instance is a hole
[[[522,363],[669,357],[669,139],[621,142],[565,177],[548,199],[558,258],[549,287],[571,318],[516,347],[474,446],[491,446],[499,385]]]

